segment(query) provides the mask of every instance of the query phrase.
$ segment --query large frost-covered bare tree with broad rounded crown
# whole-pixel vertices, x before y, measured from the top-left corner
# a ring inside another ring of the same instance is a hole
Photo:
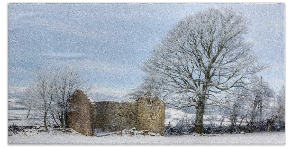
[[[143,71],[166,82],[168,103],[196,108],[197,133],[206,104],[222,103],[219,94],[251,85],[251,74],[265,68],[244,39],[248,32],[248,20],[234,9],[209,8],[181,19],[144,62]]]

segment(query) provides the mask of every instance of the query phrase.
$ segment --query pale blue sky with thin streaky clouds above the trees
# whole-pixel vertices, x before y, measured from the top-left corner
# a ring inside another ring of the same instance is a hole
[[[285,4],[9,4],[8,88],[30,85],[36,66],[74,67],[91,93],[124,97],[142,83],[139,69],[169,29],[189,13],[232,7],[250,20],[246,40],[269,67],[276,91],[285,83]]]

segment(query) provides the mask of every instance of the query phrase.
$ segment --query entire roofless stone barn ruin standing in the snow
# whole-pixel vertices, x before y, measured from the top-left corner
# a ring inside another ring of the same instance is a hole
[[[136,101],[93,101],[76,90],[68,102],[68,125],[84,135],[133,127],[164,135],[165,103],[150,94]]]

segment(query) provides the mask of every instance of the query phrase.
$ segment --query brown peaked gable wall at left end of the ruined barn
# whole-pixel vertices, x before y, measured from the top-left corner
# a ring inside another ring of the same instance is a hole
[[[84,135],[92,135],[92,119],[94,115],[92,102],[81,90],[76,90],[67,101],[71,109],[67,118],[69,127]]]

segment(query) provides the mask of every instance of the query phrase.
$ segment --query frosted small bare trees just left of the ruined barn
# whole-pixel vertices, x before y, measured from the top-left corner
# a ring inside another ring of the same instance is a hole
[[[43,116],[44,127],[47,128],[48,115],[53,119],[53,125],[67,126],[67,113],[70,110],[67,99],[75,90],[88,91],[92,85],[81,79],[74,68],[37,67],[32,72],[31,86],[22,93],[19,102]]]

